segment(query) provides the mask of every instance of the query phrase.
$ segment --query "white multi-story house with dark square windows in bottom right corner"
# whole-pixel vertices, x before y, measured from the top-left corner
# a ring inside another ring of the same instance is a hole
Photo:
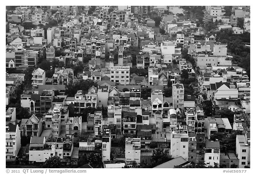
[[[239,159],[238,168],[250,166],[250,144],[244,135],[236,135],[236,154]]]

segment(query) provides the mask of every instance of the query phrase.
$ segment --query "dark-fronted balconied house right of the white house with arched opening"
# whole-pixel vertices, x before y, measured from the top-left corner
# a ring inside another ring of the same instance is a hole
[[[47,112],[52,107],[54,92],[50,90],[44,90],[40,95],[40,111]]]

